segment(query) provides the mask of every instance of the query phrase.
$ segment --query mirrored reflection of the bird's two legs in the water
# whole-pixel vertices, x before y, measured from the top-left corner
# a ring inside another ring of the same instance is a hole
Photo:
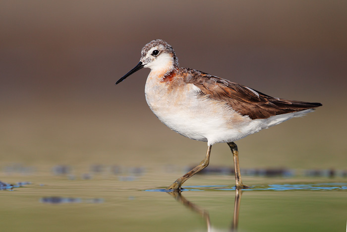
[[[211,231],[211,221],[210,221],[210,215],[207,210],[204,210],[197,206],[196,204],[188,201],[184,196],[182,196],[181,192],[168,192],[171,196],[173,196],[176,201],[183,204],[185,207],[189,208],[193,212],[199,214],[207,225],[207,231]],[[238,213],[240,211],[240,203],[241,203],[241,195],[242,190],[236,189],[235,190],[235,202],[234,202],[234,214],[231,222],[231,232],[237,232],[238,227]]]

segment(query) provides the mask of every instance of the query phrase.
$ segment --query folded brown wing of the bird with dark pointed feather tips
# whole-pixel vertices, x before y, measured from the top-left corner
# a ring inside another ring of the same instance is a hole
[[[200,88],[201,95],[226,102],[236,112],[241,115],[248,115],[251,119],[269,118],[274,115],[287,114],[322,105],[321,103],[274,98],[241,84],[195,70],[186,69],[186,73],[194,74],[188,74],[192,78],[186,80],[187,83],[192,83]]]

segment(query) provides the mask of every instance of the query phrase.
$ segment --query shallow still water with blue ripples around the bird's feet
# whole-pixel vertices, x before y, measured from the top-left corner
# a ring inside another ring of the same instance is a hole
[[[195,175],[184,191],[165,187],[182,170],[54,166],[3,168],[0,224],[6,231],[344,231],[347,178]],[[293,173],[293,172],[292,172]],[[295,173],[295,172],[294,172]],[[301,172],[306,173],[306,172]],[[20,183],[18,183],[20,182]]]

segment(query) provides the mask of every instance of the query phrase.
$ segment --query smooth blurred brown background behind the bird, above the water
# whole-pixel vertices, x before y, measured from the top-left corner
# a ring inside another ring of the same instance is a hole
[[[347,1],[0,1],[2,163],[198,163],[148,108],[141,48],[316,112],[237,143],[241,168],[345,168]],[[231,164],[227,145],[211,164]],[[271,160],[269,162],[269,160]]]

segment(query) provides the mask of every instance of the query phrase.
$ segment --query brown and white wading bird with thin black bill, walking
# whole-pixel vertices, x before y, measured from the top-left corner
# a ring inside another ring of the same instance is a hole
[[[322,105],[274,98],[226,79],[179,68],[173,48],[160,39],[142,48],[140,62],[116,84],[142,68],[151,69],[145,95],[153,113],[173,131],[208,145],[200,164],[173,182],[168,190],[179,191],[188,178],[207,167],[211,147],[216,143],[227,143],[231,149],[236,188],[248,187],[241,180],[234,141]]]

